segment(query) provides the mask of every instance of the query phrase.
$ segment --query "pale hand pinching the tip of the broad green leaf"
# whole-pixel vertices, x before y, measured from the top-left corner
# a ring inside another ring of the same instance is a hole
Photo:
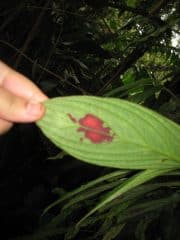
[[[14,123],[35,122],[42,118],[46,99],[32,81],[0,61],[0,135]]]

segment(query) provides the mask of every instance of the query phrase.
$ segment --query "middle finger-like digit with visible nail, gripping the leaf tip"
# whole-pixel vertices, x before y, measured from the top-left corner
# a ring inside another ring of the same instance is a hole
[[[9,122],[33,122],[44,114],[42,103],[27,101],[0,87],[0,119]]]

